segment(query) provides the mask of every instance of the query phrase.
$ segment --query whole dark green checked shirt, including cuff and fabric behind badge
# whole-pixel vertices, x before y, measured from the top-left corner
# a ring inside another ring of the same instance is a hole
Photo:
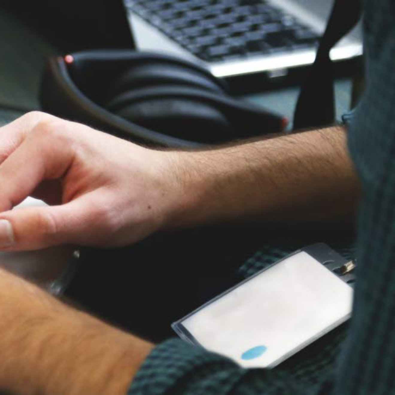
[[[272,370],[241,369],[168,340],[146,359],[130,393],[395,393],[395,3],[364,0],[364,6],[367,87],[349,136],[363,186],[349,328],[337,328]],[[240,272],[251,275],[288,252],[264,246]]]

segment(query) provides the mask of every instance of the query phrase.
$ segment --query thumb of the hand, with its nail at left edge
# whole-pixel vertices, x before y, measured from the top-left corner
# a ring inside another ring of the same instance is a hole
[[[60,244],[94,244],[105,233],[100,206],[82,196],[58,206],[17,208],[0,214],[0,250],[37,250]]]

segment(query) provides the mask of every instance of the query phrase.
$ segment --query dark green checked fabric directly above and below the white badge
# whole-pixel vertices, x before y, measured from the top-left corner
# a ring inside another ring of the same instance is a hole
[[[264,245],[239,269],[248,277],[283,258],[303,245],[314,242],[281,241],[281,247]],[[333,243],[332,243],[333,244]],[[335,243],[335,249],[351,259],[350,243]],[[170,339],[157,346],[137,373],[130,394],[307,394],[325,386],[334,371],[334,362],[346,337],[342,325],[276,369],[241,369],[220,355],[193,347],[180,339]]]

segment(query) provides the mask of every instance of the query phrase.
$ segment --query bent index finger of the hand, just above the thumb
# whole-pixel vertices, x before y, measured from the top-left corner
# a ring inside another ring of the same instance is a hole
[[[34,126],[0,164],[0,212],[23,201],[41,181],[64,175],[72,160],[70,139],[59,133],[55,135],[51,124]]]

